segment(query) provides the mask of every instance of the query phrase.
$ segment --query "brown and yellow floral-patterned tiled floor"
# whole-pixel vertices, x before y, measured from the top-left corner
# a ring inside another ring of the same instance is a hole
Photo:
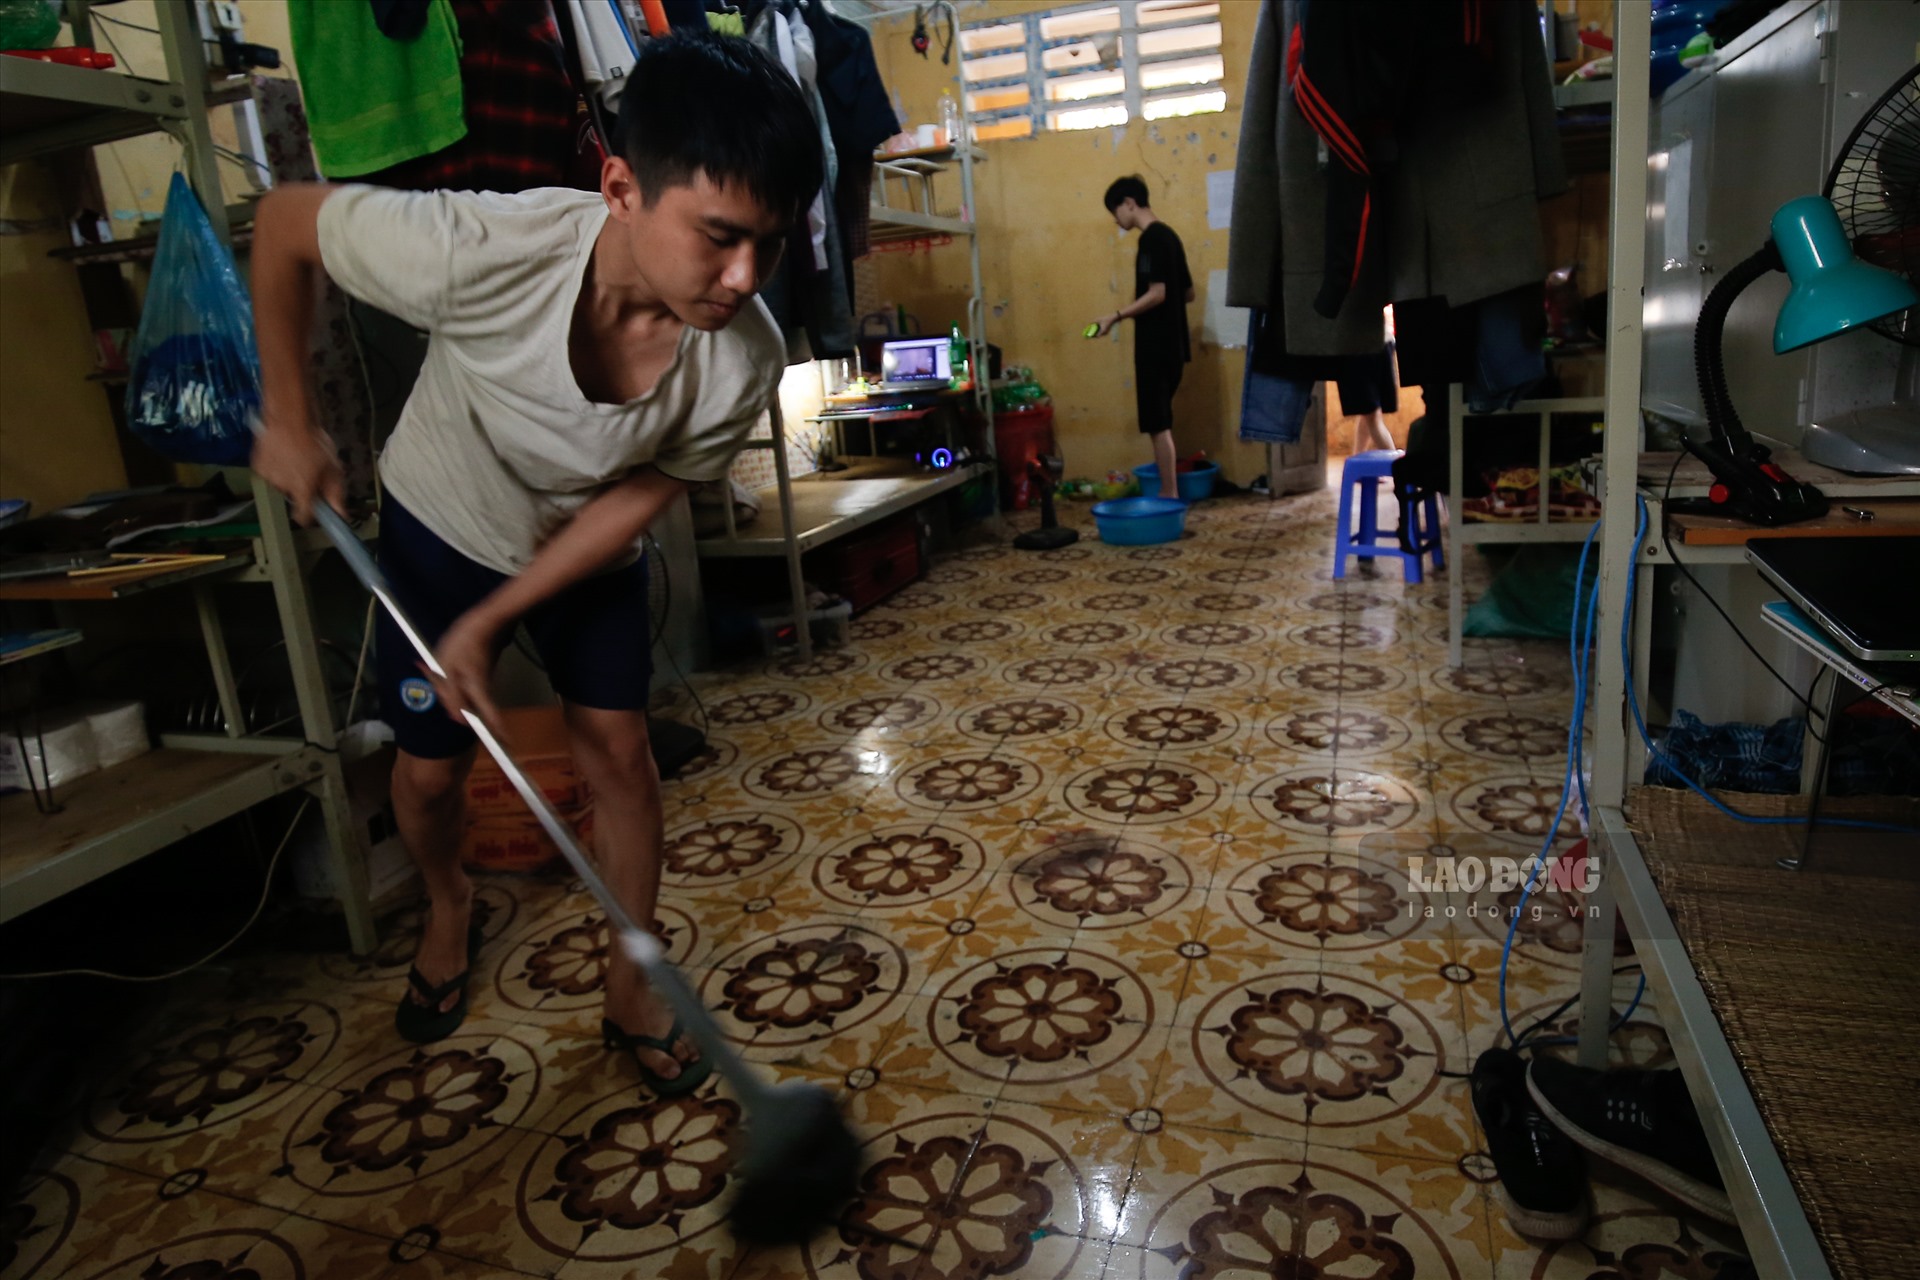
[[[1548,1249],[1492,1196],[1457,1073],[1507,1021],[1578,1032],[1584,902],[1413,858],[1548,839],[1567,660],[1448,668],[1446,581],[1334,581],[1331,524],[1329,491],[1162,547],[981,535],[845,649],[693,679],[655,931],[756,1071],[839,1096],[858,1192],[814,1242],[733,1240],[739,1096],[607,1054],[605,917],[501,875],[438,1044],[392,1032],[419,908],[171,988],[0,1207],[0,1276],[1713,1280],[1738,1236],[1645,1186],[1596,1173]],[[1672,1061],[1649,1000],[1613,1054]]]

